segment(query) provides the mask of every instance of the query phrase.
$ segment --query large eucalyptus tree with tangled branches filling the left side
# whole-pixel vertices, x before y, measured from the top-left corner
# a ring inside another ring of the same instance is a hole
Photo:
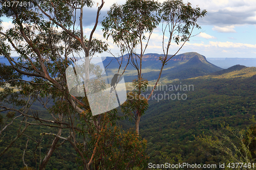
[[[120,133],[115,127],[116,110],[92,116],[87,96],[73,96],[67,86],[65,71],[74,64],[70,57],[88,58],[107,49],[105,42],[93,38],[104,1],[97,4],[95,23],[87,36],[83,32],[83,10],[93,6],[91,0],[25,0],[22,3],[0,0],[0,3],[0,19],[6,17],[13,23],[13,27],[5,32],[0,25],[0,55],[10,64],[0,64],[0,86],[3,87],[0,112],[12,111],[5,119],[0,118],[4,125],[2,130],[9,126],[8,119],[24,117],[20,124],[24,130],[19,130],[7,149],[19,136],[26,135],[24,131],[28,126],[47,126],[56,128],[57,133],[41,133],[42,138],[50,135],[53,140],[44,159],[39,162],[39,169],[46,168],[55,149],[66,141],[76,151],[78,163],[84,169],[143,167],[147,159],[144,154],[146,141],[133,137],[132,132]],[[11,57],[13,52],[18,54],[18,61]],[[24,77],[30,80],[25,81]],[[15,86],[19,88],[18,92],[12,88]],[[49,111],[51,119],[28,111],[35,100]],[[54,105],[49,107],[50,100]],[[7,103],[19,108],[7,107]],[[63,136],[63,130],[69,135]],[[40,144],[41,139],[27,137],[37,146]],[[25,161],[24,165],[27,166]]]

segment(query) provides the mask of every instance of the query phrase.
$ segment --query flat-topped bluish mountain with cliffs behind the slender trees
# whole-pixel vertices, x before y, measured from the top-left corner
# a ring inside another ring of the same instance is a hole
[[[160,56],[163,55],[153,53],[144,55],[142,60],[143,78],[147,79],[148,81],[156,80],[158,78],[159,71],[162,66],[162,63],[159,60]],[[169,55],[168,57],[172,57],[172,55]],[[111,60],[112,62],[109,64],[108,68],[115,72],[119,66],[117,60],[113,59],[112,57],[106,57],[103,64],[107,65],[107,63],[110,63]],[[121,58],[119,57],[118,60],[120,62]],[[127,62],[127,60],[128,56],[125,55],[123,57],[123,63]],[[195,52],[190,52],[179,54],[171,58],[167,62],[167,65],[164,66],[161,79],[183,80],[204,76],[219,70],[222,70],[222,68],[208,62],[205,56]],[[126,68],[124,77],[126,82],[131,82],[133,79],[137,78],[137,72],[132,65]]]

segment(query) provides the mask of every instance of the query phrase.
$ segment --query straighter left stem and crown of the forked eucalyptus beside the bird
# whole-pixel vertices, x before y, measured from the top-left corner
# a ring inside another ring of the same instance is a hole
[[[126,1],[124,5],[114,4],[108,11],[108,16],[102,21],[104,36],[108,39],[111,36],[114,43],[118,44],[122,54],[128,53],[130,63],[137,70],[138,80],[135,83],[138,87],[134,98],[136,102],[130,104],[123,111],[132,109],[136,122],[136,131],[139,132],[140,117],[144,114],[147,107],[147,101],[140,96],[146,81],[142,78],[142,59],[146,50],[150,36],[153,30],[157,28],[160,22],[159,3],[154,1]],[[146,33],[149,35],[146,37]],[[147,44],[143,46],[142,41],[147,40]],[[139,54],[136,48],[140,48]],[[128,101],[132,102],[131,99]]]

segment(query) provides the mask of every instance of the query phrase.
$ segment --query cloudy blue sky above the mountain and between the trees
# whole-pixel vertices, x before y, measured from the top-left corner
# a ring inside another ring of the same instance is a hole
[[[159,1],[163,2],[163,1]],[[186,42],[180,52],[197,52],[206,58],[256,58],[256,1],[255,0],[190,0],[183,1],[191,3],[192,7],[207,10],[207,15],[198,20],[200,30],[195,29],[189,42]],[[84,34],[90,35],[96,17],[97,3],[93,8],[84,9],[83,27]],[[100,21],[107,14],[111,5],[124,4],[125,1],[106,1],[101,10],[99,24],[94,37],[103,39]],[[4,28],[11,27],[11,21],[3,19]],[[163,54],[161,28],[153,32],[150,45],[145,53]],[[115,55],[118,47],[113,41],[108,40],[109,48]],[[172,43],[169,54],[174,54],[179,46]],[[111,56],[109,53],[101,54],[102,57]]]

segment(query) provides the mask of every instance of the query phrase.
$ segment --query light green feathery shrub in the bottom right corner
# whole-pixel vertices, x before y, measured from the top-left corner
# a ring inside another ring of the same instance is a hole
[[[203,134],[196,137],[197,140],[200,140],[206,144],[204,147],[208,146],[218,150],[220,152],[220,160],[225,164],[254,163],[255,158],[252,157],[253,152],[251,152],[254,146],[251,144],[252,141],[255,141],[255,134],[252,133],[252,129],[247,128],[247,130],[238,130],[231,128],[225,123],[223,123],[221,126],[224,132],[215,131],[214,135],[212,136]]]

